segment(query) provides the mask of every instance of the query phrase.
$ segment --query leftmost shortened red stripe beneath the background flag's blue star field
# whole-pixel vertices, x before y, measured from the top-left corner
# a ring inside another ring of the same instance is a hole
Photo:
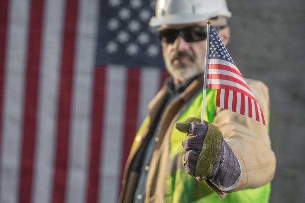
[[[106,67],[96,67],[94,73],[94,91],[91,111],[90,161],[86,197],[87,203],[96,203],[98,198],[101,141],[103,139],[103,109],[106,90],[105,68]]]

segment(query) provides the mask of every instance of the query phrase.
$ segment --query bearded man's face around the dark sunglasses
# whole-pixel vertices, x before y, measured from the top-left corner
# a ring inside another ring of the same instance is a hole
[[[180,25],[162,25],[161,28],[180,29],[192,25],[206,26],[207,24],[206,22],[198,22]],[[212,25],[214,25],[213,21]],[[204,72],[206,40],[185,42],[178,35],[173,43],[161,42],[161,44],[166,69],[173,77],[175,85]]]

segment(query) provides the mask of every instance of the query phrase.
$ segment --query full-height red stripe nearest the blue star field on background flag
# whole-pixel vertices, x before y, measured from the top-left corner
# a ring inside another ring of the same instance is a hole
[[[52,203],[65,200],[78,1],[66,0]]]

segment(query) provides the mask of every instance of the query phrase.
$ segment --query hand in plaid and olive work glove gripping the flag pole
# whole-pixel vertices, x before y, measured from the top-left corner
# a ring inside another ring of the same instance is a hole
[[[218,127],[206,121],[201,124],[195,117],[177,122],[175,127],[187,133],[182,142],[186,173],[198,181],[208,179],[221,191],[233,190],[240,181],[241,168]]]

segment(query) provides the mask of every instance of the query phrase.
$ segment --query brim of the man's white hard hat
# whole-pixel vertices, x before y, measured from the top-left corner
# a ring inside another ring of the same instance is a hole
[[[185,24],[208,20],[216,16],[224,16],[230,18],[232,13],[230,11],[221,11],[207,13],[204,15],[200,14],[170,14],[162,17],[152,16],[150,20],[150,26],[156,27],[161,25],[174,25],[174,24]]]

